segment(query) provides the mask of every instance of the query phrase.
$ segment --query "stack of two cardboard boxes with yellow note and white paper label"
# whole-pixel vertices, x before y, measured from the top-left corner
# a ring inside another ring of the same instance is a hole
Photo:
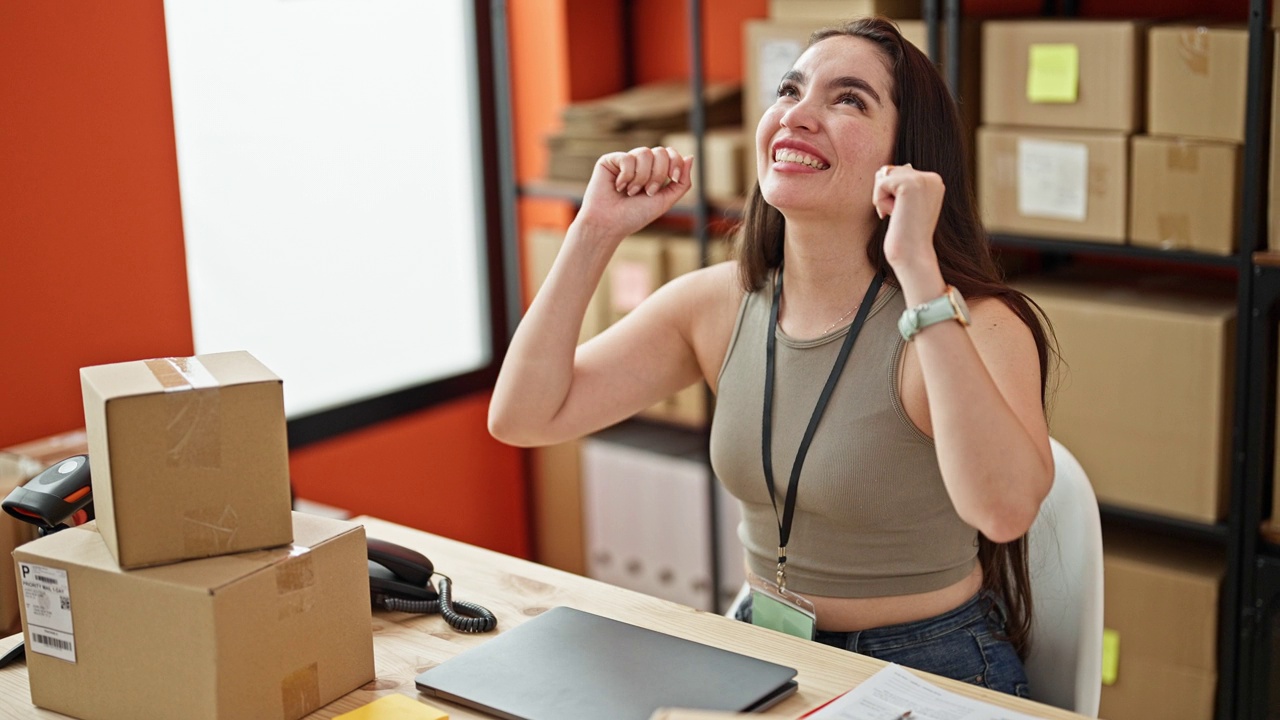
[[[983,23],[978,202],[988,231],[1125,242],[1144,41],[1130,20]]]

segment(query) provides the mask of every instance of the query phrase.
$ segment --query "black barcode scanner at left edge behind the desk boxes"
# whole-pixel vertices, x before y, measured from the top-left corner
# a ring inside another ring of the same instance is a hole
[[[0,507],[49,533],[93,519],[90,488],[88,455],[73,455],[13,488]]]

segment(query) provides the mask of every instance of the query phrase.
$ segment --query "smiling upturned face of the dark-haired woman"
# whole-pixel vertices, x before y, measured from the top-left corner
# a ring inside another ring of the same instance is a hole
[[[755,131],[764,200],[788,219],[873,217],[876,170],[892,163],[893,81],[869,40],[835,36],[809,47]]]

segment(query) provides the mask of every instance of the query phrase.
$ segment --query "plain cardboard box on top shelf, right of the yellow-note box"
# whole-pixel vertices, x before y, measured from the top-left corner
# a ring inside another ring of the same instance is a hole
[[[1243,143],[1249,31],[1156,26],[1147,41],[1147,131]]]

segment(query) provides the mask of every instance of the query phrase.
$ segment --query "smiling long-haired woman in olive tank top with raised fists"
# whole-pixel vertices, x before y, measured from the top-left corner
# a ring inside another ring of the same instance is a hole
[[[692,159],[596,163],[490,430],[562,442],[705,379],[713,468],[742,502],[759,588],[740,618],[1025,694],[1020,538],[1053,473],[1047,340],[998,281],[955,105],[896,27],[861,19],[814,35],[755,149],[737,260],[575,347],[613,250],[689,190]]]

